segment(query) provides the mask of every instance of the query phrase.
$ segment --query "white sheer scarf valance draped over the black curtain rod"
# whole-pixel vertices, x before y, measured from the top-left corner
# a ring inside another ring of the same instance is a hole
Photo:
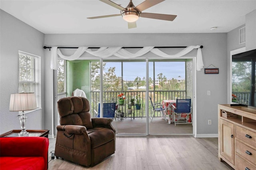
[[[182,51],[174,55],[168,55],[163,51],[161,51],[160,49],[154,48],[154,47],[143,47],[136,53],[130,53],[129,51],[127,51],[126,49],[123,49],[122,47],[100,47],[96,51],[92,51],[92,49],[88,49],[88,47],[78,47],[78,49],[73,55],[65,56],[61,53],[58,47],[52,47],[51,69],[58,69],[58,55],[65,60],[75,60],[75,59],[78,59],[84,52],[87,52],[87,53],[90,53],[91,55],[102,57],[102,58],[107,58],[114,55],[116,57],[128,59],[128,58],[135,58],[135,57],[142,56],[150,51],[160,57],[176,58],[176,57],[182,57],[183,55],[189,53],[193,49],[197,49],[196,70],[200,71],[204,66],[200,45],[188,46]]]

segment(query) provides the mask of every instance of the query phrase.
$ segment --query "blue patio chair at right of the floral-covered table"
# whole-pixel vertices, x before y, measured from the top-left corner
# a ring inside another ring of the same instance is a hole
[[[172,104],[174,124],[192,124],[191,97],[177,97],[175,105]]]

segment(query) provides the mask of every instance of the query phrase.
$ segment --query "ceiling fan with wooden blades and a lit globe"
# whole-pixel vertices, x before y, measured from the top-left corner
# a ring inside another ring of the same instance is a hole
[[[126,8],[123,8],[122,6],[110,0],[100,0],[100,1],[121,10],[120,14],[95,16],[95,17],[89,17],[88,19],[122,16],[123,19],[128,22],[128,28],[136,28],[137,27],[136,21],[139,19],[139,17],[152,18],[157,20],[167,20],[167,21],[173,21],[176,18],[176,15],[154,14],[154,13],[142,12],[143,10],[146,10],[160,2],[163,2],[164,0],[145,0],[138,6],[134,6],[134,4],[132,3],[132,0],[130,0],[130,3],[128,4],[128,6],[126,6]]]

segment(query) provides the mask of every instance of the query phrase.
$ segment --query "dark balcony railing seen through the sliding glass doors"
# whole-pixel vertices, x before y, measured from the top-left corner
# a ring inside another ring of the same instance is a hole
[[[139,103],[141,103],[141,109],[134,109],[134,117],[146,117],[145,106],[146,106],[146,97],[148,95],[152,98],[153,103],[161,103],[163,100],[176,100],[177,97],[185,97],[186,91],[149,91],[149,94],[146,95],[146,91],[104,91],[103,92],[103,101],[116,101],[118,104],[118,95],[124,93],[125,102],[122,107],[119,107],[121,112],[126,113],[128,109],[128,101],[131,98],[136,98],[139,95]],[[66,93],[58,93],[58,100],[66,97]],[[100,103],[100,91],[91,91],[90,104],[91,104],[91,113],[94,113],[94,110],[98,112],[98,103]],[[149,103],[149,113],[151,113],[152,105]],[[135,106],[134,106],[135,107]],[[92,114],[92,117],[94,114]],[[156,112],[156,116],[160,117],[160,112]]]

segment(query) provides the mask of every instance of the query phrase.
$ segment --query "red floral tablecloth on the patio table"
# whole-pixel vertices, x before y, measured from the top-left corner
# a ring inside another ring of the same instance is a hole
[[[165,115],[168,115],[168,124],[174,122],[174,116],[172,113],[172,104],[176,105],[176,100],[163,100],[162,101],[162,106],[164,109]],[[180,114],[180,115],[175,115],[175,121],[181,120],[181,119],[187,119],[186,114]],[[188,121],[191,120],[191,115],[189,115]],[[191,122],[191,121],[190,121]]]

